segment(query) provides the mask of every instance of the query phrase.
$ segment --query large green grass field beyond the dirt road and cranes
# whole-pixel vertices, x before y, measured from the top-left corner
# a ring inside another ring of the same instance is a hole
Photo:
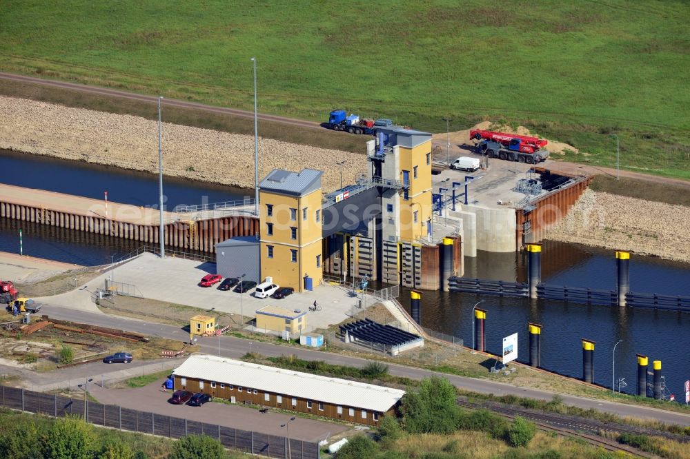
[[[523,124],[690,179],[685,1],[8,0],[0,70],[324,121]]]

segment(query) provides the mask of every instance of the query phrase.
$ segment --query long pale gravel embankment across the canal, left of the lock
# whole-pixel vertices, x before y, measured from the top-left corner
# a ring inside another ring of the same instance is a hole
[[[156,121],[28,99],[0,96],[0,148],[158,172]],[[254,187],[253,136],[163,123],[163,154],[166,175]],[[364,154],[259,138],[259,179],[273,169],[310,167],[324,171],[330,192],[340,185],[339,161],[346,161],[344,183],[366,170]]]

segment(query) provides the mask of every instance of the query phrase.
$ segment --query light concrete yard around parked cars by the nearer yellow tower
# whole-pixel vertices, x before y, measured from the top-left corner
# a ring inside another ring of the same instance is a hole
[[[97,312],[96,305],[90,299],[91,292],[103,288],[105,279],[114,274],[116,282],[135,285],[137,293],[144,298],[169,301],[181,305],[199,307],[204,310],[215,308],[217,311],[255,316],[257,309],[266,305],[277,305],[287,309],[306,311],[307,331],[342,322],[351,315],[358,298],[353,298],[348,290],[334,285],[318,285],[313,292],[295,293],[282,300],[273,298],[255,298],[252,292],[238,294],[232,291],[221,291],[214,287],[199,287],[199,280],[208,273],[215,273],[215,264],[167,257],[161,260],[153,254],[141,254],[128,263],[115,268],[114,272],[105,272],[90,281],[86,286],[57,296],[37,298],[41,303],[72,307],[83,311]],[[322,309],[309,311],[317,302]],[[367,296],[366,305],[373,305],[374,298]],[[357,309],[359,310],[359,309]],[[48,308],[44,314],[50,314]]]

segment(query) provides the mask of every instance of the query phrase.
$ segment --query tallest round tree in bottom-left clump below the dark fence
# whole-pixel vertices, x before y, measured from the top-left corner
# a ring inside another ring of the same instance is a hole
[[[79,416],[56,420],[46,436],[44,451],[50,459],[92,459],[95,451],[91,426]]]

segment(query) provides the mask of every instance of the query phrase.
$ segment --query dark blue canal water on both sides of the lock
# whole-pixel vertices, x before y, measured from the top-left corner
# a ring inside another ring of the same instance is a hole
[[[111,201],[155,207],[158,201],[157,176],[128,172],[115,167],[86,165],[73,161],[47,159],[0,150],[3,183],[44,190],[102,198],[108,191]],[[230,201],[251,194],[221,185],[194,183],[164,178],[166,207],[181,204]],[[124,256],[140,243],[63,228],[0,218],[0,251],[19,253],[19,228],[23,230],[24,253],[41,258],[99,265],[110,256]],[[624,247],[623,247],[624,248]],[[479,252],[465,258],[465,276],[503,281],[525,281],[523,254]],[[0,276],[1,277],[1,276]],[[542,252],[542,281],[551,285],[615,289],[615,257],[610,250],[546,241]],[[630,263],[631,291],[690,296],[690,265],[659,258],[633,256]],[[409,290],[401,302],[409,308]],[[560,374],[582,377],[580,339],[596,341],[594,381],[611,387],[613,344],[616,347],[615,374],[628,384],[623,391],[637,387],[635,354],[662,360],[662,374],[670,393],[683,399],[683,382],[690,379],[690,314],[647,309],[580,305],[557,301],[521,298],[480,298],[472,294],[423,292],[422,325],[463,338],[471,345],[472,307],[484,300],[487,310],[486,347],[499,353],[502,338],[518,333],[518,360],[529,358],[526,323],[543,325],[542,366]],[[651,382],[651,376],[650,376]]]

